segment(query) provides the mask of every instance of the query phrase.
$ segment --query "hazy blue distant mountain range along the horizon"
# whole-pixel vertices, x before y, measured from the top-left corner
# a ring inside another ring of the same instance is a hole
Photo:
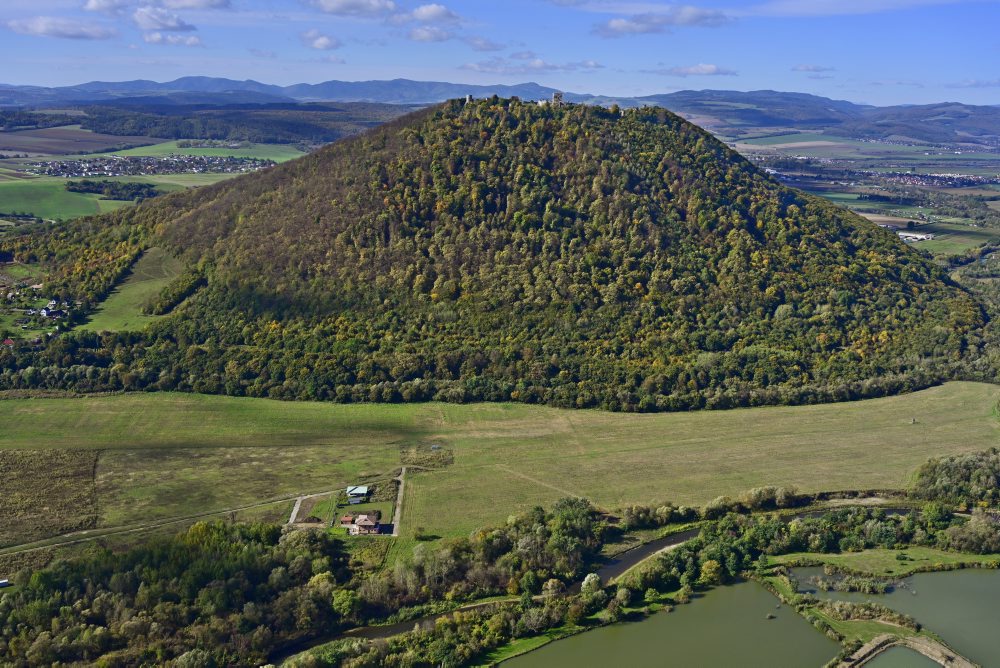
[[[101,104],[113,106],[288,104],[304,102],[379,102],[421,105],[491,95],[524,100],[549,99],[555,88],[537,83],[480,86],[443,81],[326,81],[275,86],[258,81],[183,77],[175,81],[92,81],[45,88],[0,84],[0,107]],[[644,97],[611,97],[566,92],[569,102],[637,107],[658,105],[718,134],[749,129],[799,129],[841,136],[930,143],[1000,146],[1000,106],[961,103],[876,107],[805,93],[771,90],[680,91]]]

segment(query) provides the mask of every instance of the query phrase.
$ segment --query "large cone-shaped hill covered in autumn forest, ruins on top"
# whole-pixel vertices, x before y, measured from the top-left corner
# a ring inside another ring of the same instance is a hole
[[[166,246],[192,270],[161,310],[206,285],[142,336],[9,355],[6,387],[805,402],[941,379],[983,318],[893,233],[656,108],[450,102],[73,229],[8,247]],[[111,266],[53,280],[94,297]]]

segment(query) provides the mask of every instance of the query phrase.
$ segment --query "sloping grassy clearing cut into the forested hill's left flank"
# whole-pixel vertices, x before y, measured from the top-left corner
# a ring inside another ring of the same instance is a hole
[[[143,253],[125,282],[114,289],[81,329],[135,331],[163,316],[145,315],[142,307],[183,269],[179,260],[159,248]]]

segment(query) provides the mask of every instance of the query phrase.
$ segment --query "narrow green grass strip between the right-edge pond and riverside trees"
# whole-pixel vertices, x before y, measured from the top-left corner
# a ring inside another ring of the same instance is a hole
[[[906,561],[896,559],[905,554]],[[771,557],[772,564],[786,564],[800,559],[810,559],[824,564],[872,575],[903,577],[926,566],[958,566],[964,564],[993,564],[1000,561],[1000,554],[960,554],[945,552],[933,547],[911,546],[904,550],[865,550],[841,554],[793,553]]]

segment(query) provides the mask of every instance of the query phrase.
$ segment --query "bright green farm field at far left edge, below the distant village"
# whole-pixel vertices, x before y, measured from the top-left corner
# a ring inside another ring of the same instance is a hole
[[[114,211],[129,202],[102,200],[66,190],[66,180],[40,177],[0,181],[0,212],[30,213],[46,220],[69,220]]]

